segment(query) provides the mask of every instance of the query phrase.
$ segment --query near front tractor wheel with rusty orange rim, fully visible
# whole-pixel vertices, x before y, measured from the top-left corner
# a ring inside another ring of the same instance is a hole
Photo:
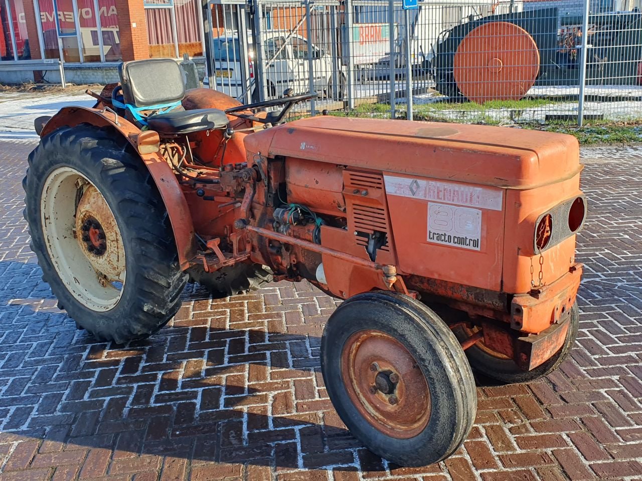
[[[446,459],[473,426],[477,395],[464,350],[408,296],[374,291],[343,302],[325,325],[321,369],[351,434],[395,464]]]

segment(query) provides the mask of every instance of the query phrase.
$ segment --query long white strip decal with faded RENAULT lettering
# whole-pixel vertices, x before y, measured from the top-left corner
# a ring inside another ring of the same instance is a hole
[[[389,175],[383,176],[383,178],[386,184],[386,194],[391,196],[410,197],[412,199],[446,202],[492,210],[501,210],[502,208],[501,189]]]

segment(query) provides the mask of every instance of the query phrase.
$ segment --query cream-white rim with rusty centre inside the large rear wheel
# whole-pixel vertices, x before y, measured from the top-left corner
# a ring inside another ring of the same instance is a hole
[[[125,286],[125,249],[96,185],[72,167],[56,168],[44,182],[40,215],[51,264],[67,291],[97,312],[116,306]]]

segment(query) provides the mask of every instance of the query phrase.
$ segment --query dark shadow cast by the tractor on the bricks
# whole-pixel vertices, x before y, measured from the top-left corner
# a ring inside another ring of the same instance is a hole
[[[331,407],[319,337],[167,326],[145,341],[97,342],[56,308],[37,264],[11,264],[0,270],[13,284],[0,289],[0,444],[27,437],[114,459],[387,469]],[[187,297],[206,299],[197,287]],[[302,380],[307,394],[296,392]]]

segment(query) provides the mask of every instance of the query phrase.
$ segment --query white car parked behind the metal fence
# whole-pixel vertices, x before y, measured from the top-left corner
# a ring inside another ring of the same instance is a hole
[[[251,37],[250,37],[251,42]],[[314,72],[315,92],[322,96],[343,98],[345,92],[345,74],[336,72],[333,76],[334,65],[340,65],[339,60],[333,62],[324,49],[312,47],[312,63]],[[254,80],[257,68],[254,61],[254,44],[250,44],[248,66],[250,80]],[[216,90],[231,97],[242,97],[244,92],[243,74],[241,70],[241,55],[237,33],[213,39],[212,54],[214,57],[214,75]],[[263,60],[266,65],[267,97],[281,97],[284,90],[293,89],[295,94],[309,92],[309,61],[308,40],[300,35],[292,35],[291,31],[273,30],[266,33],[264,38]],[[334,79],[338,87],[334,86]],[[205,87],[209,87],[209,76],[205,72]],[[252,82],[253,96],[254,82]]]

